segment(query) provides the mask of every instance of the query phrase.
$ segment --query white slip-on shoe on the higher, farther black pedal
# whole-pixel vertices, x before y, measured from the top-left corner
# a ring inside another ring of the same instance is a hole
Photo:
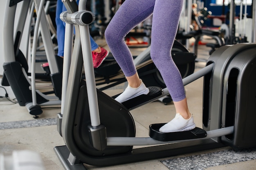
[[[149,92],[149,89],[141,81],[141,84],[137,88],[132,88],[128,85],[128,87],[126,87],[125,91],[122,94],[120,94],[117,98],[115,98],[115,100],[117,100],[118,102],[121,103],[121,102],[129,100],[131,98],[135,98],[141,94],[148,94],[148,92]]]

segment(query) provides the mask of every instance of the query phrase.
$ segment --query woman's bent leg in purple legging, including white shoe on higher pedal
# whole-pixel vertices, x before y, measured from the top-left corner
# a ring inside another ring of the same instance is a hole
[[[154,4],[155,0],[126,0],[106,28],[107,44],[128,81],[128,87],[124,93],[116,98],[119,102],[149,92],[139,79],[132,54],[124,41],[124,37],[153,13]]]

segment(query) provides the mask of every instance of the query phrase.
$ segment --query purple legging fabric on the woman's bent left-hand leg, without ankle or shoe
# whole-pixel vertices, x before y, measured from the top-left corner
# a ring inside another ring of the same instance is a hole
[[[124,37],[153,13],[155,0],[126,0],[117,10],[105,31],[107,44],[126,77],[137,70]]]

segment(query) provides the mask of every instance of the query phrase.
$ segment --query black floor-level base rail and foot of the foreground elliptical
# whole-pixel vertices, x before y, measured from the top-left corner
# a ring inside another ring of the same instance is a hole
[[[157,146],[149,146],[144,148],[136,148],[132,153],[124,153],[112,155],[109,157],[88,157],[88,162],[93,166],[112,166],[124,163],[132,163],[138,161],[146,161],[152,159],[160,159],[185,153],[198,152],[201,150],[209,150],[214,148],[225,147],[224,144],[216,142],[213,139],[198,139],[193,142],[187,141],[182,143],[173,143]],[[54,151],[66,170],[85,170],[88,163],[77,162],[70,164],[68,157],[70,151],[67,146],[56,146]]]

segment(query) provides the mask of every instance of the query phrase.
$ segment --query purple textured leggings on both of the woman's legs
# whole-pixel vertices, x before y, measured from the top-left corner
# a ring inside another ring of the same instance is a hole
[[[137,70],[124,37],[153,14],[150,56],[173,101],[186,98],[182,77],[171,57],[183,0],[125,0],[105,31],[107,44],[125,76]]]

